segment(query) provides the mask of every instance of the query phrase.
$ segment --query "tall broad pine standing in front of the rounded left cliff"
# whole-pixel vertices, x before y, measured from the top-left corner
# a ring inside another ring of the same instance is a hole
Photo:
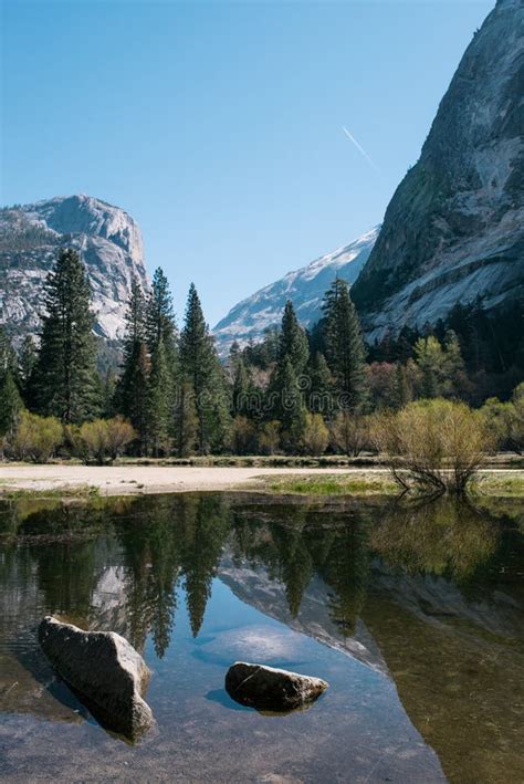
[[[90,285],[75,250],[62,250],[45,285],[45,310],[35,367],[39,412],[77,422],[94,416],[96,343]]]

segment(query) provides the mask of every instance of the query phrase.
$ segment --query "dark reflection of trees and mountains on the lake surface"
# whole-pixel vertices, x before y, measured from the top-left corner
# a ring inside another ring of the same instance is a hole
[[[139,650],[149,639],[161,662],[184,609],[202,660],[226,667],[248,640],[268,663],[296,663],[256,625],[199,637],[218,578],[263,616],[392,679],[449,780],[517,781],[524,508],[492,506],[245,494],[3,502],[0,711],[85,714],[74,700],[67,711],[71,696],[35,649],[44,613],[116,630]],[[35,699],[34,681],[53,682],[56,699],[49,689]]]

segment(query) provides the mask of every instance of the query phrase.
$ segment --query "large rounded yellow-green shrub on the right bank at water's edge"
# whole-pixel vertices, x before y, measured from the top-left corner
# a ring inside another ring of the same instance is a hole
[[[442,399],[377,417],[373,437],[398,484],[430,492],[464,492],[492,447],[478,411]]]

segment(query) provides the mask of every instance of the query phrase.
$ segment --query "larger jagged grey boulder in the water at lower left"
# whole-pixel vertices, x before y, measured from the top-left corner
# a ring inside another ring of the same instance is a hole
[[[46,616],[39,642],[57,673],[107,729],[135,739],[154,723],[143,700],[150,671],[114,631],[83,631]]]

